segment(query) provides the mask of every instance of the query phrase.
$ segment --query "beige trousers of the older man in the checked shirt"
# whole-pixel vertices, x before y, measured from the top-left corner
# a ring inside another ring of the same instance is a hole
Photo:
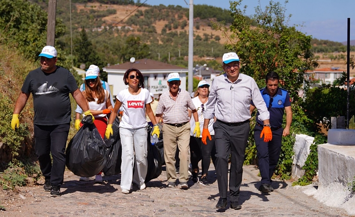
[[[166,165],[166,178],[168,182],[176,181],[175,153],[176,147],[179,148],[180,158],[180,178],[179,181],[189,180],[189,161],[190,161],[190,123],[181,127],[164,124],[162,128],[164,142],[164,159]]]

